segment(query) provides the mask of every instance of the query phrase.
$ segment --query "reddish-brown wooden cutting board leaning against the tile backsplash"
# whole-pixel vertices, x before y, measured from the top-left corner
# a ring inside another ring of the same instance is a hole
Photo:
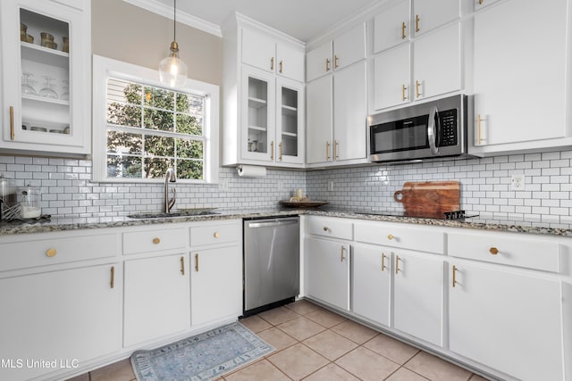
[[[403,203],[404,215],[442,219],[445,211],[460,210],[458,181],[408,181],[393,199]]]

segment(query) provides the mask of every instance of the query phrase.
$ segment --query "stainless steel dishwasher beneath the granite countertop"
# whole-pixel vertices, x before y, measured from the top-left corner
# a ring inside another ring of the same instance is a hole
[[[299,217],[244,220],[244,316],[299,294]]]

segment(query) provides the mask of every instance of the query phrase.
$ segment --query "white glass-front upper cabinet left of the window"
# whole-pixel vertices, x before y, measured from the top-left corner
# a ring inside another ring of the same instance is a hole
[[[4,152],[90,153],[90,1],[0,3]]]

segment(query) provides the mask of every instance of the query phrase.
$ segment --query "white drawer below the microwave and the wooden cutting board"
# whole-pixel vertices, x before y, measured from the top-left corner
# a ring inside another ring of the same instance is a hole
[[[359,221],[356,222],[356,241],[442,254],[445,236],[439,229],[415,228],[407,224]]]

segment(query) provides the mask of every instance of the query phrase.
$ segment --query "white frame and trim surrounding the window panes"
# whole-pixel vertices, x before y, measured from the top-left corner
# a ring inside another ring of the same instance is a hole
[[[125,79],[143,85],[205,96],[203,158],[204,178],[177,178],[191,184],[218,182],[219,161],[219,87],[196,79],[187,79],[185,87],[169,88],[159,82],[159,71],[132,63],[93,55],[93,181],[101,183],[161,183],[164,178],[107,178],[107,79]]]

